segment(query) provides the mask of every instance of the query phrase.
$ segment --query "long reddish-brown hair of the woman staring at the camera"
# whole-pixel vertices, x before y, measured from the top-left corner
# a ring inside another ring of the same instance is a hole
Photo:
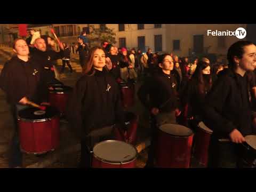
[[[89,55],[86,62],[83,63],[83,75],[92,76],[95,74],[95,69],[93,67],[93,55],[97,49],[104,51],[100,46],[92,47],[92,49],[89,51]]]

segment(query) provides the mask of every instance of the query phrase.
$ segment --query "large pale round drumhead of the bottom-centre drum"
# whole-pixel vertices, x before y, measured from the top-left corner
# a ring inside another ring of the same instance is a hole
[[[110,163],[129,162],[137,155],[137,150],[123,141],[107,140],[97,143],[93,147],[93,154]]]

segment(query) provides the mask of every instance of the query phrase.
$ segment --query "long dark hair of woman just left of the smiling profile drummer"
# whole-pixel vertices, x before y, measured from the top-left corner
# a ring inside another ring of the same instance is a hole
[[[197,63],[197,67],[195,70],[195,73],[192,75],[192,79],[198,82],[198,91],[199,94],[205,95],[205,90],[210,90],[212,87],[212,78],[211,75],[209,75],[209,78],[206,79],[203,76],[203,69],[206,67],[209,67],[209,63],[204,61],[199,61]]]

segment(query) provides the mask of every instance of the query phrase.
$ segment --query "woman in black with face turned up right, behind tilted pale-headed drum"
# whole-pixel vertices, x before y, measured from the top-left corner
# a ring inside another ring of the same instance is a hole
[[[174,76],[171,75],[174,66],[171,55],[159,55],[158,66],[158,73],[153,78],[149,78],[137,93],[139,100],[150,111],[153,119],[153,122],[151,122],[153,128],[152,142],[146,167],[151,167],[154,164],[155,124],[176,124],[176,117],[181,113],[176,90],[177,82]],[[148,95],[149,101],[147,99]]]

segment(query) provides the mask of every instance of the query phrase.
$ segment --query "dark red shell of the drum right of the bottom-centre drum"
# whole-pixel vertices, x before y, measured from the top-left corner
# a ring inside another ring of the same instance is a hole
[[[179,137],[158,129],[156,143],[156,166],[189,168],[194,134]]]

